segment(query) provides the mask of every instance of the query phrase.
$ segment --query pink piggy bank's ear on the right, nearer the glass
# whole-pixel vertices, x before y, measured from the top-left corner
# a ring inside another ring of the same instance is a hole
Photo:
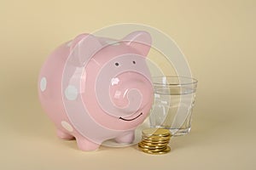
[[[147,31],[131,32],[131,34],[124,37],[122,41],[124,41],[126,45],[137,49],[139,54],[143,56],[147,56],[152,43],[151,36]]]

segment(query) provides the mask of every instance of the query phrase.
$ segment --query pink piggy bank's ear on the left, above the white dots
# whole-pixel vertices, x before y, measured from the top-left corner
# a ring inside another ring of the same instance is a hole
[[[96,37],[91,34],[81,34],[71,42],[69,61],[73,65],[82,66],[101,48],[102,44]]]

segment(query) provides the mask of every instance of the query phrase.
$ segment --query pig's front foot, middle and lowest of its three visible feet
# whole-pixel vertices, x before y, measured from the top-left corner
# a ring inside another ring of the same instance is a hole
[[[80,150],[84,150],[84,151],[97,150],[100,147],[100,144],[91,142],[90,140],[85,139],[82,136],[76,137],[76,140]]]

